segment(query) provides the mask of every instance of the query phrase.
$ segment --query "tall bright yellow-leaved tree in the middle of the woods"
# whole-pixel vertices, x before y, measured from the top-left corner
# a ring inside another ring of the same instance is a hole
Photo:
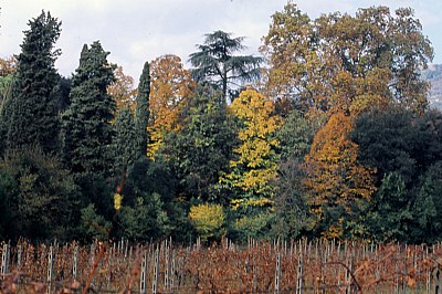
[[[253,90],[241,92],[230,106],[239,119],[240,145],[233,151],[232,171],[221,182],[239,190],[234,207],[266,206],[273,202],[280,145],[276,130],[281,118],[274,114],[275,103]]]

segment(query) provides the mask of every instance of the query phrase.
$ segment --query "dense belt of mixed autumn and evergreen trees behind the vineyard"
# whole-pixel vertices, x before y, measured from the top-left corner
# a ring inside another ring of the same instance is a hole
[[[442,114],[412,9],[309,18],[288,2],[261,56],[208,33],[138,86],[96,41],[65,77],[61,21],[0,60],[0,238],[442,240]],[[80,51],[80,49],[78,49]]]

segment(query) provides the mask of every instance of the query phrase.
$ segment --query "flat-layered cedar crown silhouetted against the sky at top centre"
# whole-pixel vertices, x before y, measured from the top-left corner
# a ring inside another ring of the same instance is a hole
[[[233,55],[244,49],[243,36],[232,38],[230,33],[214,31],[206,34],[204,44],[197,45],[198,51],[190,54],[194,66],[191,71],[196,81],[209,82],[221,88],[224,97],[230,84],[250,82],[260,76],[263,59],[253,55]]]

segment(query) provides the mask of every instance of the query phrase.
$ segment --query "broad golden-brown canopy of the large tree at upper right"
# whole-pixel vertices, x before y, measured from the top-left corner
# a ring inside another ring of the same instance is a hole
[[[420,69],[433,51],[413,10],[392,14],[372,7],[355,17],[335,12],[312,20],[287,3],[272,19],[261,50],[270,95],[343,111],[388,99],[423,113],[428,84]]]

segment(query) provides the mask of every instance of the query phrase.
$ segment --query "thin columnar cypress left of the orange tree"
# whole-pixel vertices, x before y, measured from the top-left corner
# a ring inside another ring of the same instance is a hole
[[[135,108],[135,126],[137,129],[137,158],[146,157],[147,154],[147,124],[149,122],[149,95],[150,95],[150,72],[149,63],[146,62],[138,84],[138,95],[136,98],[137,106]]]

